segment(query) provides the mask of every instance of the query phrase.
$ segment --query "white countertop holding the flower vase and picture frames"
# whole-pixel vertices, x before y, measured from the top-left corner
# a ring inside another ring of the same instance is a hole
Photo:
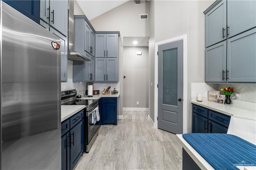
[[[191,101],[191,103],[205,107],[207,109],[211,109],[219,113],[223,113],[224,115],[256,120],[256,109],[240,107],[239,105],[222,105],[208,101]]]

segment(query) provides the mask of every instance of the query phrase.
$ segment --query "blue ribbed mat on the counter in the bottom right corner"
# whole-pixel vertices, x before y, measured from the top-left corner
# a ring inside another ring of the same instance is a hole
[[[183,138],[216,170],[256,166],[256,145],[232,134],[188,133]]]

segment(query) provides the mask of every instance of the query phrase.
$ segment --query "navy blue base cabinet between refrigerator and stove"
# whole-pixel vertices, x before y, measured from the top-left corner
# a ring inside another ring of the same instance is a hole
[[[84,111],[61,124],[61,169],[72,170],[84,152]]]

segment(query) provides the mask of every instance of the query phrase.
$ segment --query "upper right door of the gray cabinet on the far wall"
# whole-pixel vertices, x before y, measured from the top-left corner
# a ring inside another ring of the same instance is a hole
[[[106,57],[118,57],[117,34],[106,35]]]

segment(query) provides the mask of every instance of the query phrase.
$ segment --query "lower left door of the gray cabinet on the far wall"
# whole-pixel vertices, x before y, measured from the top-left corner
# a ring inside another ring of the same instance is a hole
[[[106,81],[106,58],[95,59],[95,81]]]

